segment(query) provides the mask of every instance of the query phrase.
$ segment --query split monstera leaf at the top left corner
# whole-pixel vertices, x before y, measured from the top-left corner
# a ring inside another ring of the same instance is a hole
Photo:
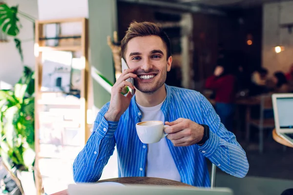
[[[8,7],[6,4],[0,5],[0,27],[7,35],[17,36],[20,33],[17,13],[18,6]]]

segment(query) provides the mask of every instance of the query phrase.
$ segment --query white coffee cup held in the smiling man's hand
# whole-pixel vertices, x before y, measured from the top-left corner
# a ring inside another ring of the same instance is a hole
[[[137,123],[136,132],[143,143],[156,143],[168,135],[164,132],[166,127],[162,121],[149,120]]]

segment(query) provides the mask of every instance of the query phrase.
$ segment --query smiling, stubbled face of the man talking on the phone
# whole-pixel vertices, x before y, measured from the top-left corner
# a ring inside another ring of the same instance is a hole
[[[158,36],[130,39],[126,49],[126,63],[138,77],[134,86],[143,93],[154,93],[166,81],[171,69],[172,57],[167,59],[167,50]]]

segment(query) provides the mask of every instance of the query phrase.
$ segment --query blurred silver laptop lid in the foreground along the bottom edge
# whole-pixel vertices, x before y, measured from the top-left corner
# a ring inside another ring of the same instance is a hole
[[[228,188],[175,186],[69,184],[69,195],[233,195]]]

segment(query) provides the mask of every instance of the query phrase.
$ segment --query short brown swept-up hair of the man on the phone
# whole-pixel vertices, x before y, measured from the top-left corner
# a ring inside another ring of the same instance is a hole
[[[153,22],[131,22],[128,30],[126,31],[125,37],[121,41],[121,57],[125,58],[125,52],[127,49],[127,43],[130,39],[136,37],[145,37],[145,36],[158,36],[160,37],[167,50],[167,59],[171,56],[171,44],[170,39],[168,38],[167,34],[163,31],[161,27]]]

